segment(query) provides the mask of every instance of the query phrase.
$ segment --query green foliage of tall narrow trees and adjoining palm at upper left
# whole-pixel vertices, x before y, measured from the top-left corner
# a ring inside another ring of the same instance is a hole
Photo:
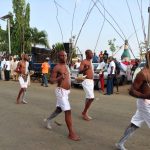
[[[30,53],[32,44],[49,48],[46,31],[30,28],[30,4],[26,5],[25,0],[12,0],[12,5],[13,14],[9,18],[12,54]],[[8,30],[0,33],[0,50],[8,51]]]

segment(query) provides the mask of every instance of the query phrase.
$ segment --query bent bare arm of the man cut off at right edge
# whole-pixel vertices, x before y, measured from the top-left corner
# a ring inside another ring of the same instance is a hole
[[[144,76],[143,76],[143,73],[140,71],[137,74],[137,76],[136,76],[136,78],[135,78],[135,80],[134,80],[134,82],[133,82],[133,84],[129,90],[129,94],[133,97],[136,97],[136,98],[150,99],[150,93],[149,94],[143,94],[140,92],[141,91],[140,89],[141,89],[143,82],[144,82]]]

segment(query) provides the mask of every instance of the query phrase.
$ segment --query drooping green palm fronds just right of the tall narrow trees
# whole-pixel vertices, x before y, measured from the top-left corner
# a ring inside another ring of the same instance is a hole
[[[44,45],[49,48],[46,31],[39,31],[37,28],[31,28],[31,43],[35,47],[36,45]]]

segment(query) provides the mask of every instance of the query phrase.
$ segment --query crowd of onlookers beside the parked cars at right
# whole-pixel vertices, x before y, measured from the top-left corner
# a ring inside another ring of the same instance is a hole
[[[136,60],[134,64],[130,62],[124,64],[124,62],[119,62],[116,58],[109,56],[105,50],[104,52],[101,51],[99,56],[93,53],[92,63],[98,64],[98,67],[94,68],[94,71],[96,74],[99,74],[100,91],[105,95],[111,95],[114,93],[114,85],[116,86],[115,93],[119,94],[119,85],[122,85],[126,81],[127,83],[131,83],[133,73],[138,67],[139,61]],[[79,69],[80,64],[81,60],[78,59],[74,65],[71,66],[71,69]],[[107,78],[105,74],[107,74]],[[95,80],[97,80],[97,77]],[[106,91],[104,90],[105,85]]]

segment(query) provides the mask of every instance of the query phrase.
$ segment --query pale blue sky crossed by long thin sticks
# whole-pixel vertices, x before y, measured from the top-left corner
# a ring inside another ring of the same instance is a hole
[[[91,9],[94,1],[97,3]],[[115,45],[120,47],[128,39],[134,53],[130,51],[130,55],[134,58],[139,56],[139,43],[144,42],[142,27],[146,36],[148,33],[150,0],[26,0],[27,3],[31,9],[30,26],[45,30],[50,46],[69,42],[74,36],[77,52],[84,54],[86,49],[91,49],[99,54],[107,50],[111,55],[108,40],[115,38]],[[13,12],[12,0],[0,0],[0,17],[8,12]],[[0,20],[0,25],[6,29],[6,21]],[[120,59],[123,47],[117,51],[114,57]]]

